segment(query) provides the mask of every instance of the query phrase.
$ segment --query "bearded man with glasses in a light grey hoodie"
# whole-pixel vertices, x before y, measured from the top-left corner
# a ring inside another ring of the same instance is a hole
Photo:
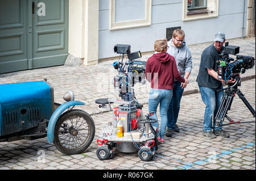
[[[174,56],[181,77],[188,79],[192,69],[192,57],[191,51],[187,47],[184,38],[185,33],[183,30],[174,30],[172,39],[168,41],[170,48],[167,50],[167,53]],[[187,86],[186,83],[179,82],[176,79],[174,79],[174,81],[173,95],[167,113],[168,123],[166,136],[168,137],[171,137],[174,132],[179,132],[179,127],[176,122],[180,110],[181,96],[184,88]]]

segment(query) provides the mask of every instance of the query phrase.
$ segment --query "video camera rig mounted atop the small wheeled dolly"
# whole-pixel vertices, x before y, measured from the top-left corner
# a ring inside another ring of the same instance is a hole
[[[141,58],[141,52],[130,53],[130,45],[117,44],[114,47],[114,52],[122,54],[122,59],[113,63],[114,68],[118,71],[118,74],[113,79],[113,84],[116,90],[119,91],[119,96],[125,100],[130,101],[134,98],[133,89],[131,89],[135,83],[145,81],[145,68],[146,62],[133,61],[137,58]],[[127,54],[128,60],[123,62],[123,58]]]

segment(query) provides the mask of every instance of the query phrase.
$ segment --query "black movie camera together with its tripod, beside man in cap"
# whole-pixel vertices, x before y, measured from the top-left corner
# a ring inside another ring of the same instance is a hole
[[[228,83],[228,87],[225,89],[221,89],[218,91],[224,91],[224,96],[221,100],[220,108],[218,109],[217,115],[215,117],[215,124],[216,127],[220,127],[222,121],[224,121],[225,117],[229,120],[229,124],[232,123],[240,123],[240,121],[235,122],[234,120],[230,119],[228,115],[228,110],[230,110],[231,104],[233,102],[234,96],[237,94],[239,98],[245,103],[245,106],[250,110],[255,117],[255,110],[251,107],[250,103],[246,100],[244,94],[238,89],[238,86],[241,86],[241,78],[240,73],[245,73],[247,69],[252,69],[255,64],[255,58],[251,56],[242,56],[237,55],[236,60],[234,61],[233,58],[229,57],[229,54],[236,55],[239,53],[240,47],[228,45],[228,42],[225,43],[225,49],[222,50],[220,57],[220,64],[218,65],[218,79],[223,79],[228,81],[229,79],[233,78],[236,79],[235,83]],[[230,61],[233,61],[230,63]]]

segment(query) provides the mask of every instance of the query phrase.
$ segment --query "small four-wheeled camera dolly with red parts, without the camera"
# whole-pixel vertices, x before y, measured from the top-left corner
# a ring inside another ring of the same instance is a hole
[[[115,99],[97,99],[96,103],[101,107],[107,107],[106,104],[122,103],[113,108],[113,121],[106,124],[98,138],[97,157],[101,160],[110,159],[113,156],[113,147],[119,152],[133,153],[138,151],[139,158],[142,161],[154,159],[155,150],[157,150],[158,140],[156,139],[155,128],[151,123],[152,113],[148,113],[143,119],[143,112],[135,106],[130,106],[130,102]],[[130,107],[130,108],[129,108]],[[108,107],[112,109],[111,107]],[[123,135],[118,136],[118,123],[122,124]]]

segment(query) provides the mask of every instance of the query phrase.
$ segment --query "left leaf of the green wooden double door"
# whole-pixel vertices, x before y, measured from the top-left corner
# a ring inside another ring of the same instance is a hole
[[[27,1],[0,1],[0,73],[27,69]]]

